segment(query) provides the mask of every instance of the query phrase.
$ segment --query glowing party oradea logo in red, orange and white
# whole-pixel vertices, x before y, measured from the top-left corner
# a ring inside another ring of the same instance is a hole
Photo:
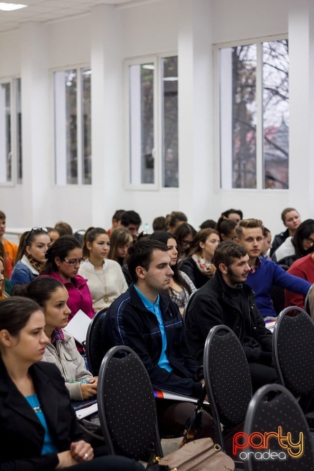
[[[298,459],[304,452],[304,436],[292,437],[286,435],[281,426],[273,432],[237,432],[233,437],[232,452],[241,461],[253,458],[257,461],[287,461],[289,458]]]

